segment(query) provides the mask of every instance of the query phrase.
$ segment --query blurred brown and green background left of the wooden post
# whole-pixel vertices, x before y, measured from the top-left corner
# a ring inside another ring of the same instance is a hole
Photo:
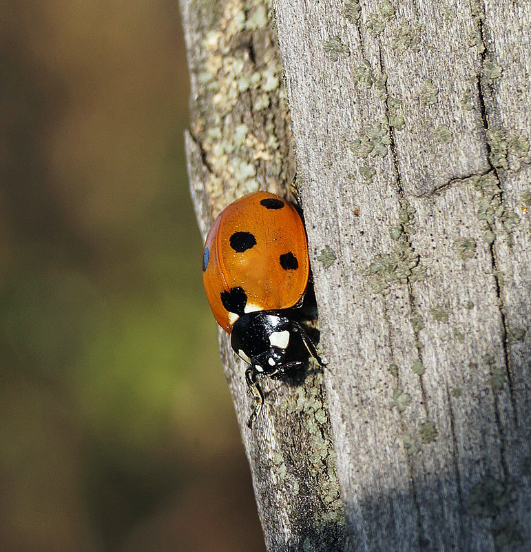
[[[2,2],[0,37],[1,551],[263,550],[177,0]]]

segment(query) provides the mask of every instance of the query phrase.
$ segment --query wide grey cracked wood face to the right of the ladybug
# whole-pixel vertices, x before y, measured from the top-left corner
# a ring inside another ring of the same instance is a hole
[[[530,542],[531,48],[503,6],[277,3],[352,550]]]

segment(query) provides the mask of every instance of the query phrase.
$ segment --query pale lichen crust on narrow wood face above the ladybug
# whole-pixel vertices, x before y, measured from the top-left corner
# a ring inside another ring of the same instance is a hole
[[[202,2],[201,6],[207,3]],[[276,115],[268,112],[263,116],[262,124],[268,136],[264,143],[247,125],[235,124],[232,113],[240,109],[242,96],[247,96],[256,112],[267,110],[272,98],[280,110],[287,112],[287,106],[278,52],[272,48],[260,54],[260,63],[255,64],[233,45],[240,41],[242,34],[249,40],[254,32],[262,29],[270,32],[269,4],[258,0],[236,0],[225,5],[216,2],[215,10],[203,15],[211,17],[214,12],[212,24],[207,25],[212,30],[201,43],[196,73],[198,110],[191,122],[191,132],[200,141],[210,169],[205,190],[212,199],[215,217],[227,203],[258,190],[256,161],[264,163],[268,176],[280,176],[279,180],[284,180],[281,173],[286,166],[285,152],[280,151],[278,140],[274,139]],[[241,121],[240,116],[238,120]]]

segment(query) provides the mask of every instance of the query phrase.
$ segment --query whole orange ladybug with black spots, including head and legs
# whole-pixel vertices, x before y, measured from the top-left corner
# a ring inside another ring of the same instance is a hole
[[[262,411],[259,380],[282,378],[309,355],[323,362],[306,330],[295,320],[308,287],[306,230],[298,210],[269,192],[231,203],[216,219],[202,257],[205,292],[231,347],[249,367],[245,380]]]

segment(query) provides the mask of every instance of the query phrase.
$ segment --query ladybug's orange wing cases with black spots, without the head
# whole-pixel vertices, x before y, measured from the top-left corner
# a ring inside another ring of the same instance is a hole
[[[222,295],[242,289],[244,312],[288,309],[304,296],[309,278],[306,230],[288,201],[256,192],[225,209],[203,254],[203,283],[214,317],[231,333],[238,314]],[[228,297],[228,296],[225,296]]]

